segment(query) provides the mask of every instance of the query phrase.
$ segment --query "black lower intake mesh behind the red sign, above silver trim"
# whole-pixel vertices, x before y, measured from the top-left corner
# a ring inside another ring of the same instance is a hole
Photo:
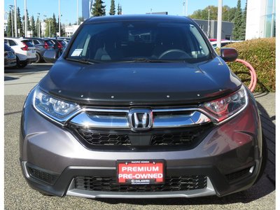
[[[160,185],[120,185],[116,177],[78,176],[75,188],[79,190],[108,192],[164,192],[207,188],[207,176],[167,176]]]

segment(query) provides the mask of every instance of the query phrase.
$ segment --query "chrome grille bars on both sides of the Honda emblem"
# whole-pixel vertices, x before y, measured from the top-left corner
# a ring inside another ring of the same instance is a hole
[[[204,113],[195,109],[152,109],[152,112],[152,127],[155,129],[188,127],[211,122]],[[79,127],[130,129],[127,113],[129,110],[83,109],[70,123]]]

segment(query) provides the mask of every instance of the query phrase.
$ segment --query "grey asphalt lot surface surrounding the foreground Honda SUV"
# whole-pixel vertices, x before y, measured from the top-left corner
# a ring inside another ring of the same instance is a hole
[[[5,209],[275,209],[275,94],[254,94],[269,147],[265,174],[252,188],[225,197],[192,199],[99,199],[46,197],[29,188],[19,164],[20,115],[25,97],[48,73],[50,64],[5,69]],[[55,164],[55,163],[54,163]]]

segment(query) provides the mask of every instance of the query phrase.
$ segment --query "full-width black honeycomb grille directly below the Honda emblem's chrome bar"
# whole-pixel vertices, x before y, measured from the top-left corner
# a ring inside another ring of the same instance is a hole
[[[195,148],[211,131],[211,124],[169,130],[95,130],[70,125],[69,130],[83,146],[92,150],[165,150],[178,151]]]

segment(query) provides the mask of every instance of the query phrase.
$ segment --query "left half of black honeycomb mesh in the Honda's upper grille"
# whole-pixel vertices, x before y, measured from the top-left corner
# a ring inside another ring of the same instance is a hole
[[[125,134],[99,133],[78,128],[76,132],[90,145],[130,145],[130,138]]]

